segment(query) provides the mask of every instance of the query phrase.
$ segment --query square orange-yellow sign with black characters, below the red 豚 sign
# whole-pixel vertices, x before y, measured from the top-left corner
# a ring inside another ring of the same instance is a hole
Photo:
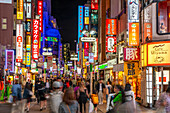
[[[138,76],[139,75],[139,63],[138,62],[125,62],[124,74],[126,76]]]

